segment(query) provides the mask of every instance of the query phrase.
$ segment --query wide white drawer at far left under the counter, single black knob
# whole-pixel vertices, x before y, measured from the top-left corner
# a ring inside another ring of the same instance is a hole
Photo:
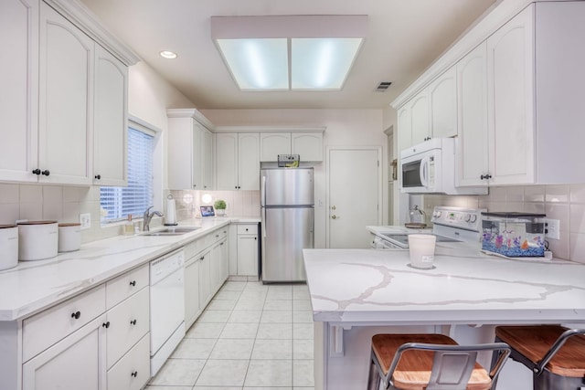
[[[101,285],[23,321],[23,362],[57,343],[106,311]]]

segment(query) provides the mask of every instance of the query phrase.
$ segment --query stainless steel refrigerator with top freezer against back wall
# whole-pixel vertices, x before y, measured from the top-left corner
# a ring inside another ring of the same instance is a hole
[[[313,168],[261,169],[262,281],[305,281],[314,248]]]

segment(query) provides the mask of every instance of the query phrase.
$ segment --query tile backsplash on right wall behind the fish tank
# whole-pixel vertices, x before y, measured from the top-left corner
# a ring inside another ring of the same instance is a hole
[[[560,220],[560,239],[548,239],[554,257],[585,263],[585,184],[490,187],[489,195],[478,196],[425,195],[428,216],[434,206],[544,213]]]

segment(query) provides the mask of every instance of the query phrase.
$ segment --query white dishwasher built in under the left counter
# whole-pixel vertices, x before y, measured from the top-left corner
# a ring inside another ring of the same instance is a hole
[[[185,337],[185,253],[150,262],[150,368],[154,376]]]

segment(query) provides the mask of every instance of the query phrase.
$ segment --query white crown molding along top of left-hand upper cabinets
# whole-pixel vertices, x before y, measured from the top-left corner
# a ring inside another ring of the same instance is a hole
[[[112,55],[122,61],[124,65],[131,66],[139,62],[133,50],[114,36],[110,30],[101,25],[101,22],[88,9],[87,6],[75,0],[43,0],[59,14],[65,16],[74,25],[78,26],[91,39],[100,44]]]

